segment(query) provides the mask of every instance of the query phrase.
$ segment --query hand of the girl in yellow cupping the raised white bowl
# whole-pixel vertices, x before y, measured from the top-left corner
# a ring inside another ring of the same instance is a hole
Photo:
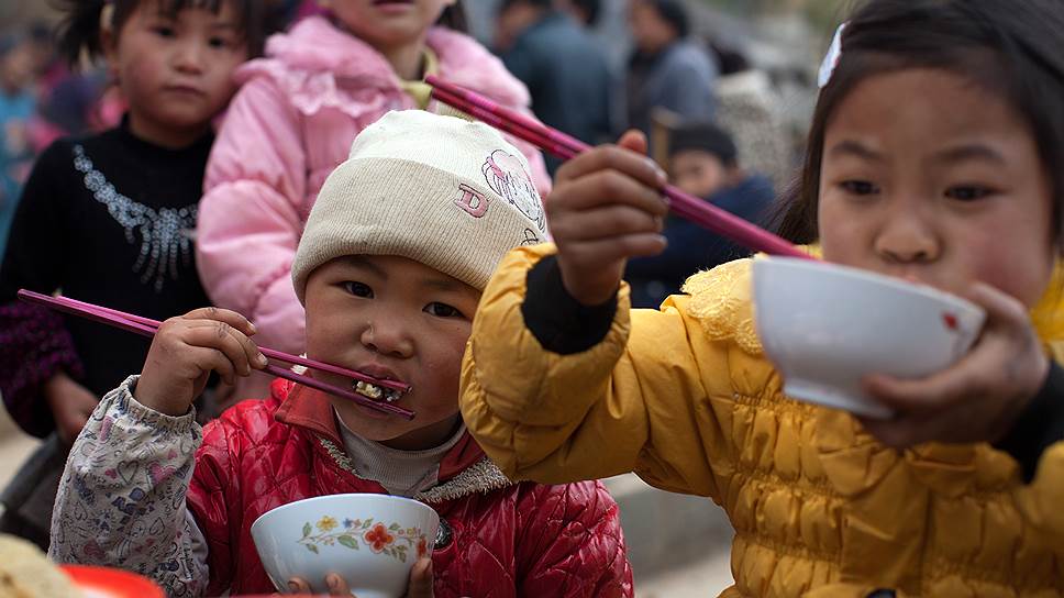
[[[1023,306],[984,284],[967,298],[986,310],[987,320],[975,346],[953,367],[920,380],[866,380],[868,392],[897,412],[890,421],[864,420],[884,444],[994,442],[1045,383],[1049,358]]]

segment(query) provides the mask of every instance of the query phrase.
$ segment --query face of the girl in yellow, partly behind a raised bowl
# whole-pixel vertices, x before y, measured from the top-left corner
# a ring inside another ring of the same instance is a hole
[[[824,258],[947,291],[987,283],[1028,306],[1053,267],[1051,185],[1026,122],[943,70],[861,82],[828,122]]]

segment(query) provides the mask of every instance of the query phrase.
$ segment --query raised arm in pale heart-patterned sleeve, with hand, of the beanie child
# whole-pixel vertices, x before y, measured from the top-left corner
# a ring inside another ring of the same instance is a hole
[[[191,403],[213,370],[226,380],[265,363],[234,312],[207,308],[163,323],[144,372],[108,394],[70,451],[49,556],[121,567],[168,595],[200,596],[206,544],[185,497],[202,432]]]

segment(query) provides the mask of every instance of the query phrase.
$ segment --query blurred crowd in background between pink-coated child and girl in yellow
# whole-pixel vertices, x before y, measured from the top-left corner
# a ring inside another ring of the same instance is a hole
[[[683,190],[772,225],[769,204],[793,166],[779,97],[744,54],[692,34],[679,0],[632,0],[632,52],[612,73],[590,31],[599,0],[505,0],[495,49],[532,95],[543,122],[589,143],[638,129]],[[558,163],[547,160],[552,171]],[[666,252],[633,259],[636,307],[657,307],[691,272],[742,257],[736,245],[681,220],[668,223]]]

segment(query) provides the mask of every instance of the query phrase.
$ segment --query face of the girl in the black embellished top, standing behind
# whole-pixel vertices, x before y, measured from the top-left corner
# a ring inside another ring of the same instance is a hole
[[[247,47],[230,2],[217,14],[185,9],[170,16],[160,9],[142,2],[108,43],[108,62],[134,132],[179,145],[201,135],[232,98],[233,70],[247,59]]]

